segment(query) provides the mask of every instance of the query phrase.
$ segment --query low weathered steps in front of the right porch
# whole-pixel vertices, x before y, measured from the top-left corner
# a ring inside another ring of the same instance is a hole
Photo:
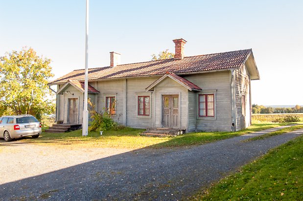
[[[148,136],[148,137],[175,137],[184,133],[185,130],[181,130],[181,129],[157,128],[157,129],[147,129],[140,135]]]

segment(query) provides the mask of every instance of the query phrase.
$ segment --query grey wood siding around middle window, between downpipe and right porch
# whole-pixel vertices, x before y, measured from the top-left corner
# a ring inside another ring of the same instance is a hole
[[[150,92],[146,92],[146,88],[156,81],[159,77],[148,78],[131,78],[127,79],[127,110],[126,110],[126,122],[127,126],[133,128],[154,128],[154,95]],[[139,116],[138,115],[138,95],[150,94],[150,115]]]

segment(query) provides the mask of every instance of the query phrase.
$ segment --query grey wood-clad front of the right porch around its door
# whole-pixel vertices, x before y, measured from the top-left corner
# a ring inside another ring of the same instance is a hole
[[[181,86],[176,81],[166,78],[155,87],[156,92],[156,128],[162,127],[162,96],[179,95],[179,128],[187,130],[188,122],[188,89]]]

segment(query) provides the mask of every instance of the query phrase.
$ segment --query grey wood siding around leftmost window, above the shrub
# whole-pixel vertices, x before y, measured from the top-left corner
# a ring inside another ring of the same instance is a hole
[[[97,94],[97,112],[105,112],[106,96],[116,96],[116,114],[113,115],[114,121],[125,125],[123,122],[123,99],[124,99],[124,80],[106,80],[98,83],[90,83],[92,86],[97,86],[100,93]]]

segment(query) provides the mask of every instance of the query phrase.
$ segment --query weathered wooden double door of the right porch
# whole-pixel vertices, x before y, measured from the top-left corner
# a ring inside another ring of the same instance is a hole
[[[179,95],[163,95],[163,127],[179,128]]]

